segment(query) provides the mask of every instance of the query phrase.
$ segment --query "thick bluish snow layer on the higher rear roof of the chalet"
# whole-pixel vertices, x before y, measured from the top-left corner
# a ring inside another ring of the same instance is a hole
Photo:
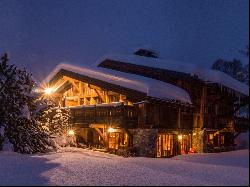
[[[206,69],[200,65],[183,63],[174,60],[163,60],[159,58],[149,58],[138,55],[106,55],[96,62],[96,65],[100,64],[104,60],[114,60],[119,62],[125,62],[130,64],[148,66],[153,68],[167,69],[176,72],[183,72],[191,74],[192,76],[197,75],[199,79],[211,82],[219,83],[228,88],[231,88],[244,95],[249,95],[249,86],[230,77],[229,75],[212,69]]]

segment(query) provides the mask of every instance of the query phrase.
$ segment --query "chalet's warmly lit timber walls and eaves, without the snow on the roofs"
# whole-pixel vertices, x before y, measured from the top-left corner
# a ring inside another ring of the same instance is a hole
[[[174,85],[185,90],[192,103],[152,97],[62,67],[50,77],[49,85],[56,88],[53,99],[70,107],[80,143],[116,153],[133,150],[137,156],[172,157],[233,150],[234,138],[248,129],[248,119],[235,115],[248,95],[188,73],[133,62],[106,58],[98,66]]]

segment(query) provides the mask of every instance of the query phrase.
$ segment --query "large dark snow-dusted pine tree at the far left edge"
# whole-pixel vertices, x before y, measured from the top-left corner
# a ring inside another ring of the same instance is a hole
[[[37,121],[39,99],[33,88],[31,74],[9,65],[5,54],[0,62],[1,142],[10,142],[14,151],[20,153],[46,152],[54,148],[49,134]]]

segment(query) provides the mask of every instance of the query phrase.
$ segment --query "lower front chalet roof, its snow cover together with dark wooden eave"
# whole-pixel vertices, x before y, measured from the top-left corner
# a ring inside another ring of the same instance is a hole
[[[190,96],[185,90],[162,81],[123,72],[112,70],[107,72],[71,64],[59,64],[43,83],[53,85],[63,76],[127,95],[131,99],[134,98],[134,101],[155,98],[166,102],[174,100],[180,103],[192,104]]]

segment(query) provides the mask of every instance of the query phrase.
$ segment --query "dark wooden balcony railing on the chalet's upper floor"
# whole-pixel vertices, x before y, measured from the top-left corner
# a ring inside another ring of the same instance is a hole
[[[87,105],[70,108],[72,124],[87,127],[91,123],[126,125],[137,124],[137,110],[134,106],[123,104]]]

